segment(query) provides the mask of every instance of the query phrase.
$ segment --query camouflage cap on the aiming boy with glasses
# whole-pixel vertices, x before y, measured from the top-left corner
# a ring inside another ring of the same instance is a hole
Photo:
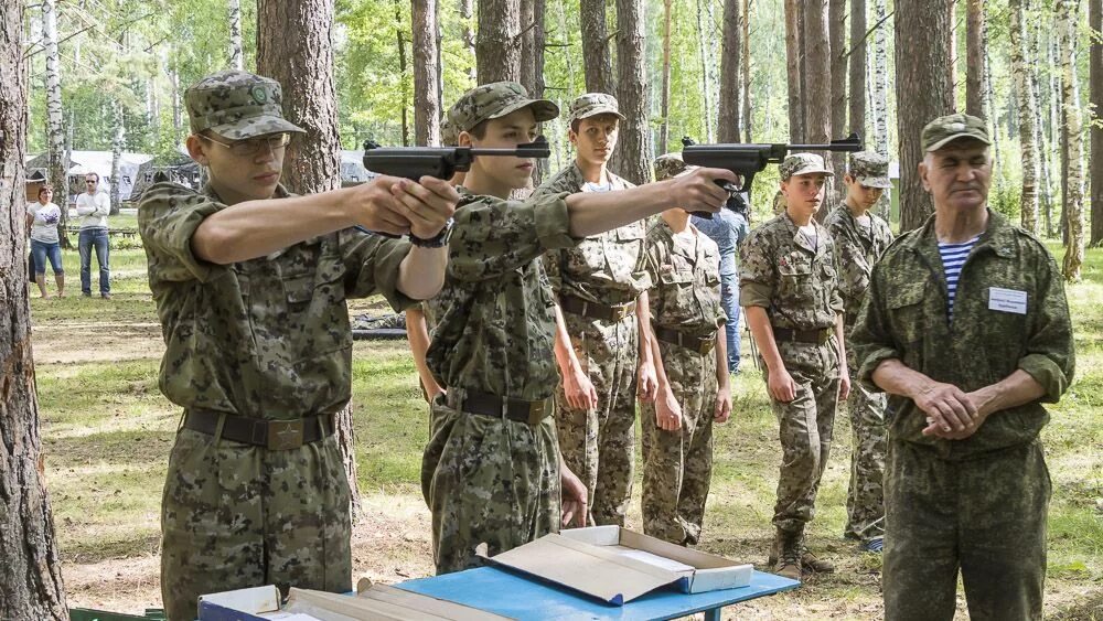
[[[283,118],[281,99],[275,79],[242,71],[211,74],[184,92],[192,132],[210,129],[231,140],[280,131],[306,133]]]

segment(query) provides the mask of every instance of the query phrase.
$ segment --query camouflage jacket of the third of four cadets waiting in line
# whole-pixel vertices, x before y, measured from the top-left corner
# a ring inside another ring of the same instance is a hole
[[[815,226],[815,248],[784,212],[751,231],[739,247],[740,306],[764,308],[778,328],[816,330],[835,324],[843,311],[838,257],[827,229]]]

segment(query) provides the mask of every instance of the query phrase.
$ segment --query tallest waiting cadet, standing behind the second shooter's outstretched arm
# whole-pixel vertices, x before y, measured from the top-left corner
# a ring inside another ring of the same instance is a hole
[[[571,101],[567,120],[575,161],[533,196],[633,188],[607,168],[623,118],[612,95],[587,93]],[[624,525],[635,460],[636,386],[644,400],[655,398],[645,235],[646,224],[639,221],[544,255],[558,304],[559,450],[586,484],[589,524]]]

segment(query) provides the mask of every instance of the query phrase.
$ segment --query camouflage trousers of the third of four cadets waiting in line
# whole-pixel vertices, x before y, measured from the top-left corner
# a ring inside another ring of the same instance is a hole
[[[838,350],[834,339],[823,345],[783,342],[778,346],[796,385],[796,398],[788,404],[770,399],[782,450],[773,525],[792,533],[803,531],[815,517],[838,403]]]

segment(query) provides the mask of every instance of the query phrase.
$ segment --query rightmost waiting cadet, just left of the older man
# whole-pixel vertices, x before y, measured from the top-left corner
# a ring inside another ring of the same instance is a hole
[[[850,156],[850,170],[843,178],[846,196],[824,226],[831,232],[838,253],[838,288],[843,297],[843,325],[850,338],[858,309],[866,299],[874,264],[892,243],[889,224],[872,213],[889,181],[889,160],[872,151]],[[850,485],[846,495],[847,523],[844,535],[860,542],[863,549],[881,552],[885,535],[885,395],[856,385],[858,364],[854,347],[846,344],[850,371],[850,411],[854,447],[850,451]]]

